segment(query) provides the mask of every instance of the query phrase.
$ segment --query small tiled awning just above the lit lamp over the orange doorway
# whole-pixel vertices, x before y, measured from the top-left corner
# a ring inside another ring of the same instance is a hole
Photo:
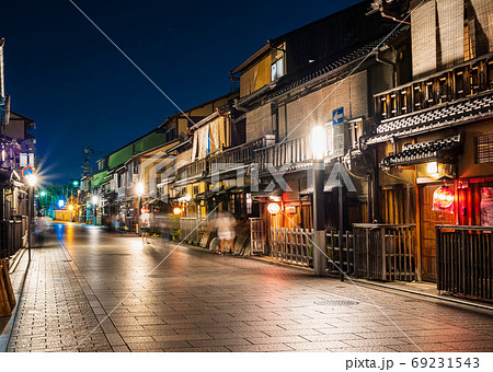
[[[402,147],[402,152],[385,158],[381,164],[385,166],[426,163],[436,160],[443,154],[461,143],[461,136],[452,136],[434,141],[408,143]]]

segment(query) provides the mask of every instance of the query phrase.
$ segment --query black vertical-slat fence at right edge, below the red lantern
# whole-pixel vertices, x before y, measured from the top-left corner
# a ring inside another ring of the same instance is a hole
[[[493,228],[436,226],[439,291],[493,300]]]

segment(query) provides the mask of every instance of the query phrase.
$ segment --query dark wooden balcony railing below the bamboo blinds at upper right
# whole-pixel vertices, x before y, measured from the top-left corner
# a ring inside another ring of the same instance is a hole
[[[493,54],[375,95],[377,117],[389,119],[493,90]]]

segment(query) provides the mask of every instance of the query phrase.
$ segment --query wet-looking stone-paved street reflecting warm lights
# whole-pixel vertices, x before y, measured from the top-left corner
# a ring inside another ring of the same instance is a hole
[[[486,311],[94,226],[55,232],[11,351],[493,351]]]

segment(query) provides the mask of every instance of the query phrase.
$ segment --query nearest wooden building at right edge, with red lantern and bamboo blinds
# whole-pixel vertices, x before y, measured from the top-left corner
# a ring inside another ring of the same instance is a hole
[[[493,3],[375,8],[410,14],[412,44],[412,80],[375,95],[375,132],[364,140],[379,166],[377,219],[415,224],[419,279],[491,298]]]

